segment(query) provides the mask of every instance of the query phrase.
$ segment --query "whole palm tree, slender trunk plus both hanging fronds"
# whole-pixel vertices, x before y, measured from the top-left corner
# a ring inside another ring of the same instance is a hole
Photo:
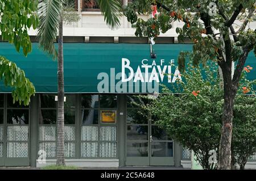
[[[64,159],[64,74],[63,74],[63,22],[65,19],[64,0],[42,0],[39,7],[39,47],[53,59],[58,60],[58,106],[57,106],[57,161],[56,165],[65,165]],[[119,26],[121,3],[119,0],[97,0],[105,22],[114,28]],[[58,52],[54,42],[58,38]]]

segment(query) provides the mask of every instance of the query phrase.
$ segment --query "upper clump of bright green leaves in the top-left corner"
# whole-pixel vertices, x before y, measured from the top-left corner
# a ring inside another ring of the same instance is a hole
[[[22,47],[25,56],[32,49],[27,30],[31,27],[36,29],[38,26],[37,6],[36,1],[0,1],[2,39],[13,43],[18,52]]]

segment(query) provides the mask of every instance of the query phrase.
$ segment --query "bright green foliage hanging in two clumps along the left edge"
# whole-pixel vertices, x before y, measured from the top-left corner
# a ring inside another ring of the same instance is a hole
[[[27,31],[29,28],[36,29],[38,26],[37,7],[37,1],[0,1],[2,40],[14,44],[17,52],[22,48],[25,56],[32,50]],[[35,93],[34,85],[25,77],[23,70],[2,56],[0,56],[0,79],[5,82],[6,86],[14,88],[14,102],[29,104],[30,96]]]

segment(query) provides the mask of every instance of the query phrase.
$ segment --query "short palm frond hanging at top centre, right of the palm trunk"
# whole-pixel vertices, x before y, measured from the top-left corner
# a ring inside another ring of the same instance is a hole
[[[120,25],[118,16],[121,15],[121,2],[119,0],[97,0],[106,24],[115,28]]]

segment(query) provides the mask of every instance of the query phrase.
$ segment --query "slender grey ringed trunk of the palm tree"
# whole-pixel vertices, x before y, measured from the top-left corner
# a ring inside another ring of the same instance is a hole
[[[64,72],[63,72],[63,19],[59,24],[58,45],[58,119],[57,119],[57,162],[56,165],[65,165],[64,159]]]

